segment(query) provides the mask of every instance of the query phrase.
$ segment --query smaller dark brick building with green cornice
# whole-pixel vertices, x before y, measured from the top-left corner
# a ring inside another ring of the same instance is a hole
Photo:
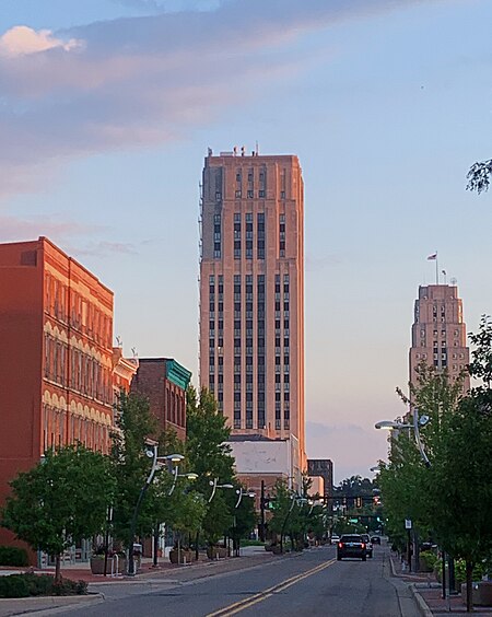
[[[191,373],[171,358],[140,358],[131,392],[149,398],[161,429],[173,429],[186,438],[186,388]]]

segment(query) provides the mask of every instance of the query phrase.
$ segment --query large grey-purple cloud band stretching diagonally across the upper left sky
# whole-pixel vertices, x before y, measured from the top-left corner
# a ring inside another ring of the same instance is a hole
[[[55,33],[16,26],[1,37],[0,196],[78,156],[183,139],[321,61],[292,39],[419,1],[230,0]]]

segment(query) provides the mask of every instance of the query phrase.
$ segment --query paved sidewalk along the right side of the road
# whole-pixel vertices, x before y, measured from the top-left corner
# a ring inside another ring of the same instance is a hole
[[[491,617],[492,606],[473,606],[473,613],[466,612],[466,604],[460,594],[443,598],[442,584],[429,572],[407,572],[402,569],[399,557],[389,551],[391,573],[409,584],[415,602],[424,617],[452,613],[457,617],[473,615],[475,617]]]

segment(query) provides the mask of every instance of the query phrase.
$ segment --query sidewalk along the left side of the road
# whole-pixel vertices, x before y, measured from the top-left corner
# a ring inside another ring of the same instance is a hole
[[[246,547],[241,549],[241,557],[229,557],[216,561],[201,559],[188,566],[173,564],[162,558],[159,561],[159,567],[154,568],[152,559],[144,558],[141,569],[134,577],[119,575],[114,578],[92,574],[89,563],[65,564],[61,569],[62,577],[86,581],[89,583],[87,595],[0,598],[0,617],[34,615],[34,613],[51,615],[71,605],[84,604],[90,606],[104,602],[104,593],[99,593],[99,590],[107,590],[107,585],[112,585],[112,589],[113,585],[150,585],[152,587],[160,584],[177,585],[187,581],[254,568],[276,559],[289,558],[291,558],[290,555],[273,556],[266,551],[263,547]],[[26,569],[19,568],[15,571],[24,572]],[[48,568],[35,570],[35,572],[52,574],[55,570]],[[14,570],[10,568],[9,573],[14,573]]]

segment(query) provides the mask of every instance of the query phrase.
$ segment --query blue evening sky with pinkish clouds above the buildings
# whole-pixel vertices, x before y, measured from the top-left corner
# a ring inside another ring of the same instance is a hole
[[[491,23],[490,0],[1,0],[0,242],[48,236],[115,292],[127,354],[197,384],[207,149],[297,154],[307,454],[371,477],[426,257],[468,331],[492,313],[492,193],[465,189]]]

